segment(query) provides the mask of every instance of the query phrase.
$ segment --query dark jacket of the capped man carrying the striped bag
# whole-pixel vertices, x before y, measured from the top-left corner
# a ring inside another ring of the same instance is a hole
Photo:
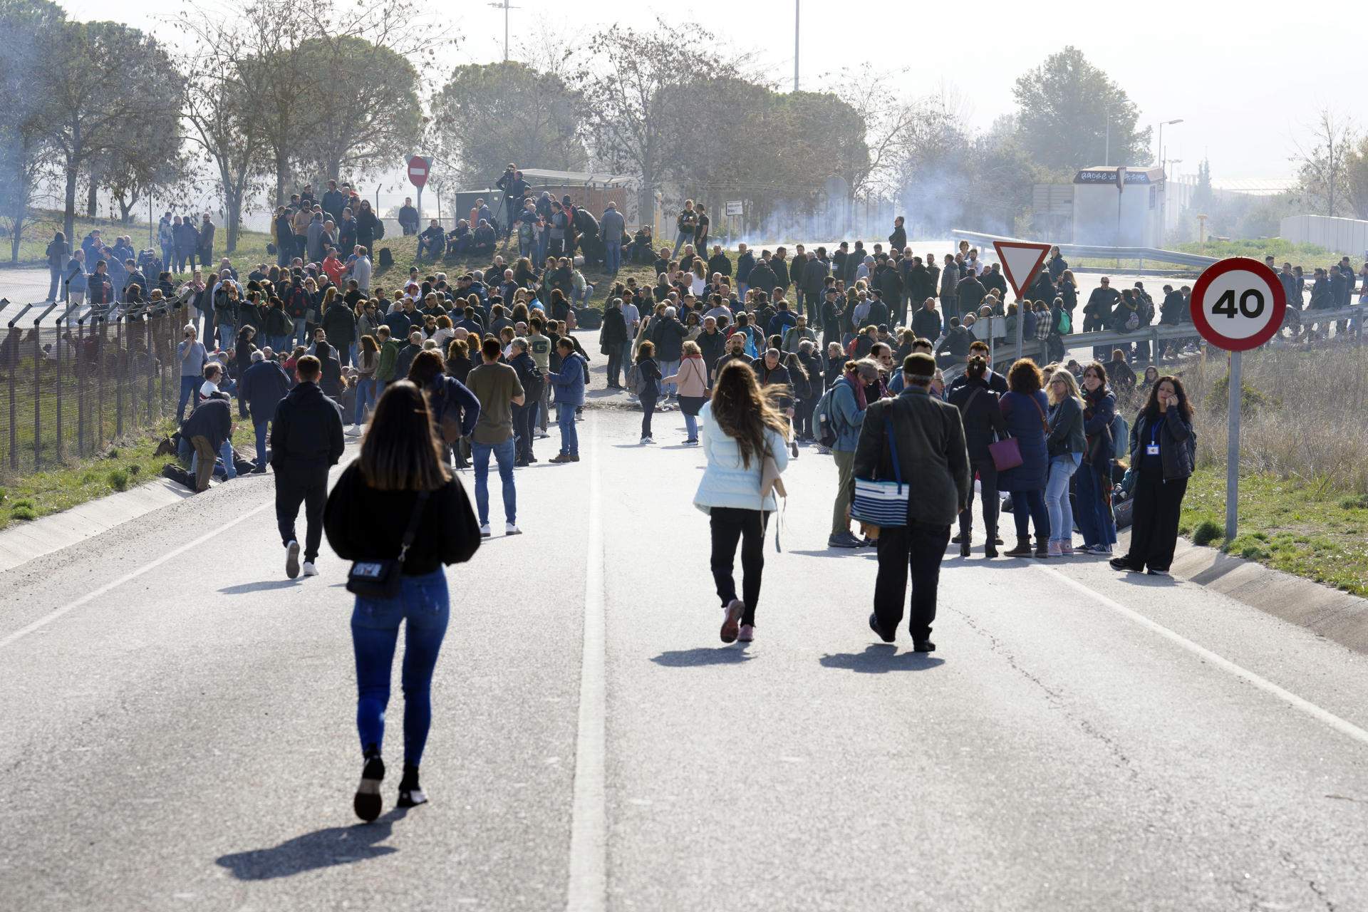
[[[889,432],[896,435],[902,477],[911,488],[908,521],[948,526],[969,503],[974,484],[959,410],[921,387],[908,387],[896,399],[870,402],[855,447],[852,499],[854,479],[893,477],[885,440]]]

